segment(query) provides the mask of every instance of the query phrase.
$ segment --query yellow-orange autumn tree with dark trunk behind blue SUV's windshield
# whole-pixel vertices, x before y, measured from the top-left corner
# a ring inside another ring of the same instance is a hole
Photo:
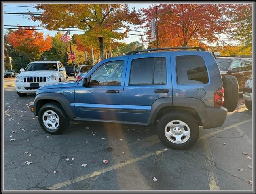
[[[129,11],[127,4],[37,4],[37,10],[42,15],[30,13],[32,21],[40,21],[49,30],[57,28],[78,27],[86,30],[83,37],[89,43],[98,42],[100,56],[104,59],[104,42],[114,39],[127,38],[129,25],[140,24],[139,13],[133,8]],[[118,33],[117,29],[126,28],[125,32]]]

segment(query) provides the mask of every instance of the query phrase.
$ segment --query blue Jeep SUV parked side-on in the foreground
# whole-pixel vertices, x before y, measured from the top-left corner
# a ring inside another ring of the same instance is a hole
[[[50,134],[66,131],[70,120],[157,125],[166,146],[190,148],[197,142],[199,126],[222,126],[227,109],[213,55],[200,47],[181,48],[104,59],[82,80],[40,87],[30,110]]]

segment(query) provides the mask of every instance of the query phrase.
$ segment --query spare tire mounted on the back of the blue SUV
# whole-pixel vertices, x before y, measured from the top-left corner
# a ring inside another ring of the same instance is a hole
[[[239,85],[235,76],[222,76],[224,88],[224,103],[223,106],[228,112],[233,112],[237,108],[239,99]]]

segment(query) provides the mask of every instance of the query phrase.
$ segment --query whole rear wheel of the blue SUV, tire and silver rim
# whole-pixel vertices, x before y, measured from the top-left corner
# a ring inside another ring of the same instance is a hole
[[[199,127],[190,114],[173,111],[159,119],[157,135],[165,146],[174,150],[186,150],[197,142]]]

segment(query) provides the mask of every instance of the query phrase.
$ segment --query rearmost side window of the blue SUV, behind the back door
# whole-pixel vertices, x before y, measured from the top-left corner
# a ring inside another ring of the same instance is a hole
[[[176,57],[178,84],[207,84],[208,72],[201,56]]]

